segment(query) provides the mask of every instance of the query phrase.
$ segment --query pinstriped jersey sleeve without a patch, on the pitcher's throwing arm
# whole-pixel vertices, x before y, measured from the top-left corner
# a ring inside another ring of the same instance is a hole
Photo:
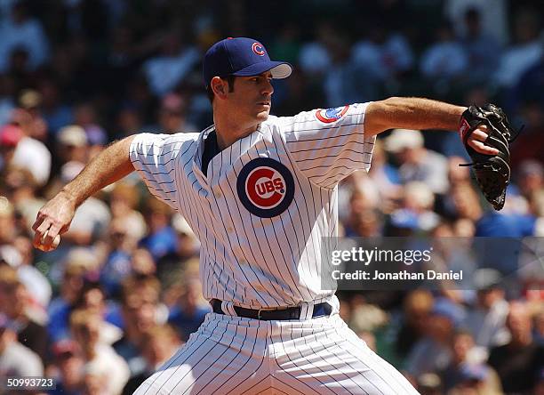
[[[148,186],[149,192],[173,208],[179,205],[176,169],[193,133],[141,133],[131,143],[132,165]]]

